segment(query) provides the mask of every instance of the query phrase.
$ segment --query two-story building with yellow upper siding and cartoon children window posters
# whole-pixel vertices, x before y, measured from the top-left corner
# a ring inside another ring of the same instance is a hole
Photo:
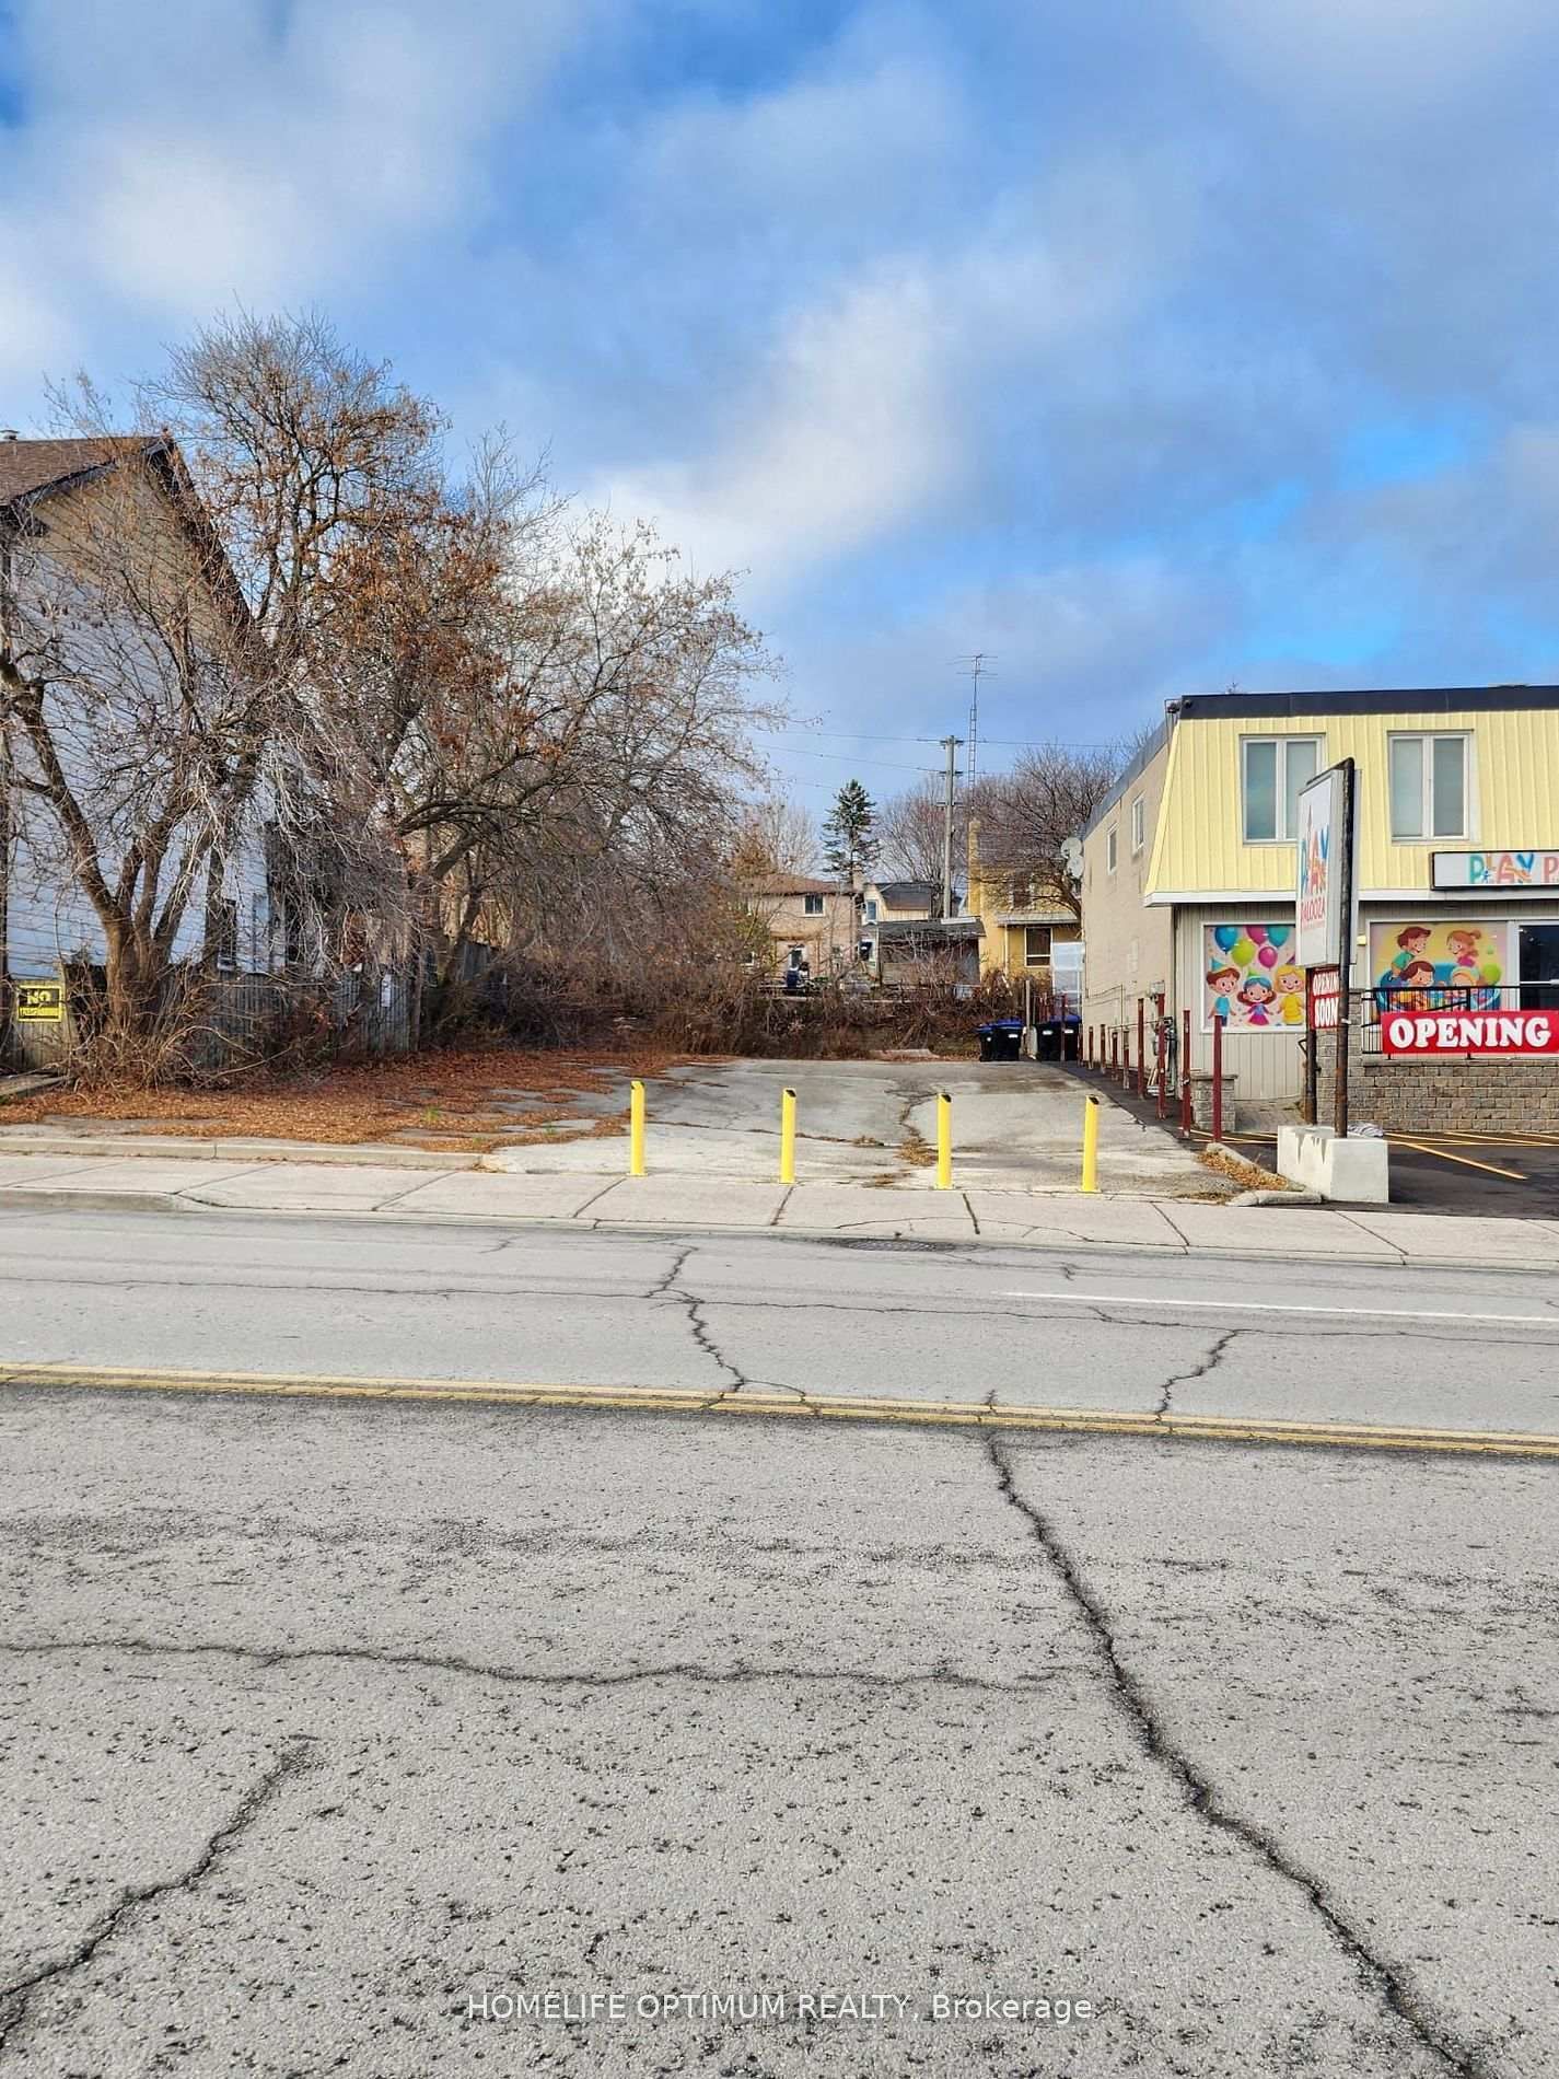
[[[1152,1017],[1162,996],[1174,1035],[1191,1012],[1193,1073],[1210,1069],[1222,1019],[1241,1102],[1301,1096],[1295,817],[1301,788],[1345,757],[1357,767],[1351,981],[1368,1075],[1355,1116],[1515,1125],[1536,1102],[1557,1119],[1553,1060],[1505,1062],[1503,1081],[1490,1062],[1441,1062],[1424,1116],[1428,1085],[1372,1033],[1395,990],[1547,1004],[1559,981],[1559,863],[1555,881],[1542,863],[1559,848],[1555,686],[1172,701],[1083,838],[1083,1023],[1135,1048],[1139,1000]]]

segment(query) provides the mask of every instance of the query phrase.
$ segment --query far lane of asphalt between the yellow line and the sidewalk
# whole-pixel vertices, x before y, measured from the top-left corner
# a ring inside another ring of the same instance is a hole
[[[1544,1272],[0,1214],[6,1362],[965,1397],[1559,1432]],[[1492,1222],[1499,1231],[1499,1222]],[[1370,1237],[1359,1235],[1364,1247]]]

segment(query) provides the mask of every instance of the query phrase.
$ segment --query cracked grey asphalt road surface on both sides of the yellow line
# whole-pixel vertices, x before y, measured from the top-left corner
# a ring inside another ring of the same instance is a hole
[[[998,1410],[1287,1380],[1285,1412],[1461,1426],[1555,1426],[1559,1393],[1559,1314],[1513,1274],[106,1214],[0,1239],[4,1356],[83,1366],[615,1362]],[[0,1387],[0,2071],[1544,2079],[1557,1478]],[[549,1988],[628,2012],[491,2012]],[[696,2010],[823,1988],[904,2012]],[[667,1994],[694,2010],[634,2010]]]

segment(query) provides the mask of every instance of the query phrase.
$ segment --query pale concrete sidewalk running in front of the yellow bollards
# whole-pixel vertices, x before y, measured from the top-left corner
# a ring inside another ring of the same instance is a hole
[[[139,1143],[146,1146],[146,1143]],[[202,1146],[202,1143],[195,1143]],[[210,1143],[206,1143],[210,1146]],[[189,1154],[0,1154],[0,1208],[351,1214],[582,1229],[831,1235],[1283,1262],[1555,1270],[1559,1220],[1470,1220],[1339,1208],[952,1191],[730,1177],[493,1175],[422,1156],[372,1162]]]

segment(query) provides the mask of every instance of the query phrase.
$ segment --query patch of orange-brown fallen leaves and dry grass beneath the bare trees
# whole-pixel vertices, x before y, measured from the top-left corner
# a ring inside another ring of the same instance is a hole
[[[6,1104],[2,1116],[6,1125],[129,1121],[131,1131],[191,1139],[254,1135],[343,1146],[395,1137],[451,1152],[559,1139],[545,1131],[549,1125],[578,1125],[570,1139],[622,1133],[619,1119],[597,1119],[578,1100],[599,1098],[628,1075],[663,1075],[682,1060],[653,1046],[632,1052],[495,1046],[349,1062],[318,1075],[256,1075],[231,1089],[48,1089]],[[522,1114],[495,1112],[499,1091],[538,1102]]]

